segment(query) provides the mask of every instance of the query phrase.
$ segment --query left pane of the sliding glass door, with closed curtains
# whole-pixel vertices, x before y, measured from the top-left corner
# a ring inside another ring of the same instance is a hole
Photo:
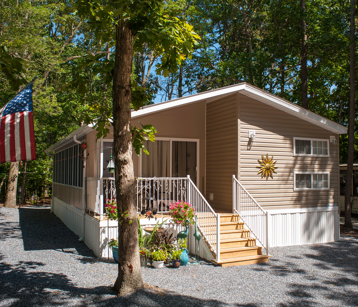
[[[142,177],[170,177],[170,142],[145,141],[149,155],[142,153]]]

